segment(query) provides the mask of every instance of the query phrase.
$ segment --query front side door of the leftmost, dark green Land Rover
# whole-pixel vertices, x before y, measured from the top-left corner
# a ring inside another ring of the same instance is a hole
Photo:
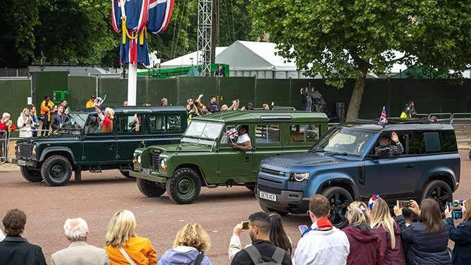
[[[99,117],[90,114],[83,135],[83,164],[114,164],[117,160],[116,122],[113,131],[99,132]]]

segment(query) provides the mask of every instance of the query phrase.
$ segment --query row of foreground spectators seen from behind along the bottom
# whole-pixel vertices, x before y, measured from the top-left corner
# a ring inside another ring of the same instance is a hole
[[[440,206],[430,198],[407,207],[397,203],[395,218],[385,200],[377,197],[366,205],[354,201],[346,209],[348,226],[339,230],[331,221],[331,203],[322,195],[311,196],[310,227],[300,225],[301,238],[294,248],[284,232],[279,214],[256,212],[248,221],[237,223],[228,248],[231,265],[257,264],[364,264],[364,265],[464,265],[471,264],[471,198],[463,203],[463,222],[455,226],[446,207],[445,220]],[[46,264],[40,246],[28,243],[22,234],[26,214],[10,210],[3,218],[6,234],[0,230],[0,264]],[[64,235],[69,246],[51,255],[51,264],[189,264],[209,265],[205,255],[211,239],[198,223],[187,223],[176,234],[173,246],[157,257],[151,240],[136,235],[137,221],[128,210],[115,213],[108,224],[105,247],[87,243],[88,225],[81,218],[67,219]],[[251,242],[243,246],[241,234]],[[454,242],[449,252],[449,240]]]

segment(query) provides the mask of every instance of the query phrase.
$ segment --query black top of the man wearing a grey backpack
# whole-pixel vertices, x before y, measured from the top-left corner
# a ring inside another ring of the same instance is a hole
[[[273,257],[273,254],[275,253],[276,246],[273,245],[273,243],[270,243],[268,241],[264,240],[255,240],[252,242],[252,246],[255,246],[257,250],[259,250],[259,253],[262,255],[262,259],[264,261],[273,261],[271,257]],[[284,253],[284,259],[282,262],[283,265],[291,265],[291,257],[289,257],[288,253]],[[239,251],[235,256],[234,259],[232,259],[231,265],[254,265],[252,262],[252,259],[250,259],[250,256],[248,253],[246,253],[246,250],[241,250]]]

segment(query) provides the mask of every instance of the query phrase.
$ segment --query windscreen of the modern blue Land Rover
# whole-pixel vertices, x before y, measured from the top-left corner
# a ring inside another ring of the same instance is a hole
[[[373,135],[375,135],[375,132],[339,128],[322,139],[314,150],[345,155],[361,155]]]

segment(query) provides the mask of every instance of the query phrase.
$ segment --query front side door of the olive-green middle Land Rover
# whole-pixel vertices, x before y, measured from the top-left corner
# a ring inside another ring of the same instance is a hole
[[[243,124],[248,126],[247,124]],[[218,182],[225,182],[228,179],[234,180],[234,182],[255,182],[255,174],[253,172],[253,150],[241,151],[232,147],[230,140],[227,137],[227,132],[232,128],[238,128],[240,124],[231,124],[223,128],[221,142],[217,148],[217,163],[218,171],[216,176]],[[250,142],[253,143],[252,137],[252,126],[249,126],[248,136]],[[236,142],[236,139],[234,139]]]

